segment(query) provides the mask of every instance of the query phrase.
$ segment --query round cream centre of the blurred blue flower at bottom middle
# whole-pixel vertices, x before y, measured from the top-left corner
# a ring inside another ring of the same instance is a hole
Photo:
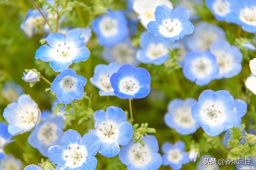
[[[141,146],[139,142],[132,145],[128,151],[128,157],[136,167],[145,166],[152,160],[150,148],[147,145]]]

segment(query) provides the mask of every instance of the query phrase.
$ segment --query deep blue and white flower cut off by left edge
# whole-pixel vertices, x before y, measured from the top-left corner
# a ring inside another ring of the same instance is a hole
[[[12,142],[12,135],[7,130],[8,126],[0,122],[0,160],[4,158],[4,146]]]

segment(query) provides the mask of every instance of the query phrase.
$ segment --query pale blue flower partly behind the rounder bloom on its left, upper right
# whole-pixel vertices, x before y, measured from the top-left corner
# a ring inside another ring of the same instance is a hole
[[[243,57],[238,47],[230,45],[226,40],[216,40],[210,46],[210,51],[215,55],[220,68],[216,79],[230,78],[241,72]]]

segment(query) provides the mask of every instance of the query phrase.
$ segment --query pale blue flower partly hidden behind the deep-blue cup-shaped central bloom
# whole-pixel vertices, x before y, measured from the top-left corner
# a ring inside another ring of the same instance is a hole
[[[110,84],[110,77],[121,67],[118,63],[110,63],[108,65],[98,64],[94,69],[94,75],[90,78],[90,82],[100,89],[100,96],[113,96],[114,89]]]

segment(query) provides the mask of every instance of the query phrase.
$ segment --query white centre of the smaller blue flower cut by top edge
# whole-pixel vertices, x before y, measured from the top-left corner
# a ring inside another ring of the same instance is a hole
[[[226,0],[216,0],[213,4],[213,10],[219,16],[226,16],[230,13],[230,3]]]

